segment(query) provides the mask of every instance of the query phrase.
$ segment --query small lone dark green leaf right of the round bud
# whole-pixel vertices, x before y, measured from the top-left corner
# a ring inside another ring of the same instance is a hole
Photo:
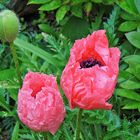
[[[45,33],[51,34],[53,36],[57,36],[56,31],[54,30],[53,27],[51,27],[49,24],[39,24],[38,27]]]

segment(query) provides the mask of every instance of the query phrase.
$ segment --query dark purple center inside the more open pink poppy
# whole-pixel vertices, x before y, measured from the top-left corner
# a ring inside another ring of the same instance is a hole
[[[82,68],[90,68],[90,67],[93,67],[95,65],[99,65],[100,67],[103,66],[100,61],[93,59],[93,58],[89,58],[87,60],[80,62],[81,69]]]

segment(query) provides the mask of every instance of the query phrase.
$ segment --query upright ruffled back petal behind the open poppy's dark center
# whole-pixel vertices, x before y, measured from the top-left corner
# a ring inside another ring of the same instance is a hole
[[[69,63],[94,58],[103,64],[108,64],[109,57],[110,53],[105,30],[99,30],[86,38],[75,41],[70,52]]]

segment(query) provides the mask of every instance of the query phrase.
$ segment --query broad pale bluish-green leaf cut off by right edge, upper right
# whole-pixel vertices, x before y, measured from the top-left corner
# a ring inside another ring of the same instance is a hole
[[[140,49],[140,32],[133,31],[125,34],[128,41],[136,48]]]

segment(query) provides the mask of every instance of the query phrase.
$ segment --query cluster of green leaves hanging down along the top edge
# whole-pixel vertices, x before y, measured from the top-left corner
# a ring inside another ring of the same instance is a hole
[[[83,11],[89,16],[92,11],[92,4],[103,3],[113,4],[114,0],[29,0],[29,4],[41,4],[39,10],[41,11],[56,11],[56,21],[59,23],[64,19],[65,15],[70,11],[71,15],[76,17],[83,17]]]

